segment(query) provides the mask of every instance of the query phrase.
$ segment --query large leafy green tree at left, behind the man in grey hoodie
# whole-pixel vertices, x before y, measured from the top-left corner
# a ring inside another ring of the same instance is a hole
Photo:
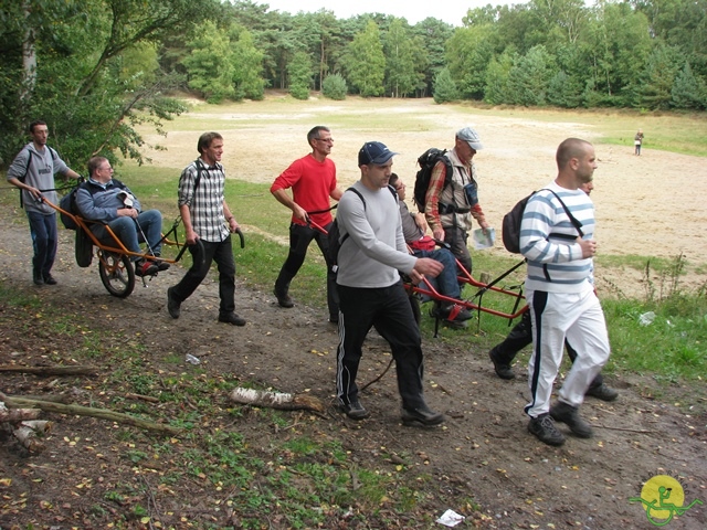
[[[188,34],[194,21],[217,17],[219,9],[215,0],[2,2],[0,157],[11,160],[28,120],[41,116],[74,167],[96,153],[115,160],[118,150],[143,161],[136,126],[160,130],[162,119],[183,109],[163,96],[177,80],[149,71],[154,62],[143,61],[149,54],[143,46]],[[28,45],[36,60],[32,83],[22,60]],[[128,56],[140,57],[145,75],[128,74]]]

